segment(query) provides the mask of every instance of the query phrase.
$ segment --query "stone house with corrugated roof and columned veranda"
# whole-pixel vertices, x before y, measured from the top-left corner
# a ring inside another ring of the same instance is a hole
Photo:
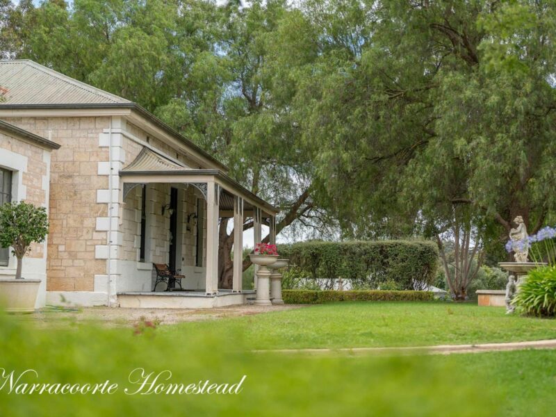
[[[253,218],[255,243],[262,224],[272,242],[277,208],[122,97],[30,60],[0,61],[0,87],[0,172],[12,184],[0,192],[49,209],[47,245],[33,247],[24,264],[24,273],[45,281],[38,306],[246,302],[241,251],[233,288],[218,288],[218,222]],[[243,247],[243,231],[234,233]],[[0,275],[12,274],[13,259],[1,262]],[[153,291],[153,263],[185,276],[174,285],[186,291],[165,291],[165,282]]]

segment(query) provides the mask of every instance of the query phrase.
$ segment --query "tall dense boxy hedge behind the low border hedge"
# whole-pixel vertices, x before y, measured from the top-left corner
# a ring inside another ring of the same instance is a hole
[[[311,240],[279,245],[278,253],[306,277],[352,279],[370,289],[386,282],[400,290],[424,288],[414,284],[432,284],[439,260],[438,247],[427,240]]]

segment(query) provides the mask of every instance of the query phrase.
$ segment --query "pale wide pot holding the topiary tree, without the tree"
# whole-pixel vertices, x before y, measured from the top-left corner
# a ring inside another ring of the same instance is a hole
[[[33,313],[40,279],[0,278],[0,305],[10,313]]]

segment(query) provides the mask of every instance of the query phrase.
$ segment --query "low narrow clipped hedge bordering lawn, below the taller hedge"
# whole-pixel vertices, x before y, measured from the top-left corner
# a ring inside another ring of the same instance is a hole
[[[322,304],[335,301],[433,301],[430,291],[309,291],[283,290],[286,304]]]

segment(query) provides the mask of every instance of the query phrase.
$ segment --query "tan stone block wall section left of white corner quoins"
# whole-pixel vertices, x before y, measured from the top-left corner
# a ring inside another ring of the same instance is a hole
[[[109,117],[4,118],[26,131],[59,143],[51,156],[48,291],[93,291],[94,277],[106,274],[106,261],[95,259],[95,247],[106,245],[97,218],[108,206],[97,202],[97,190],[108,188],[98,165],[108,161],[99,137]]]

